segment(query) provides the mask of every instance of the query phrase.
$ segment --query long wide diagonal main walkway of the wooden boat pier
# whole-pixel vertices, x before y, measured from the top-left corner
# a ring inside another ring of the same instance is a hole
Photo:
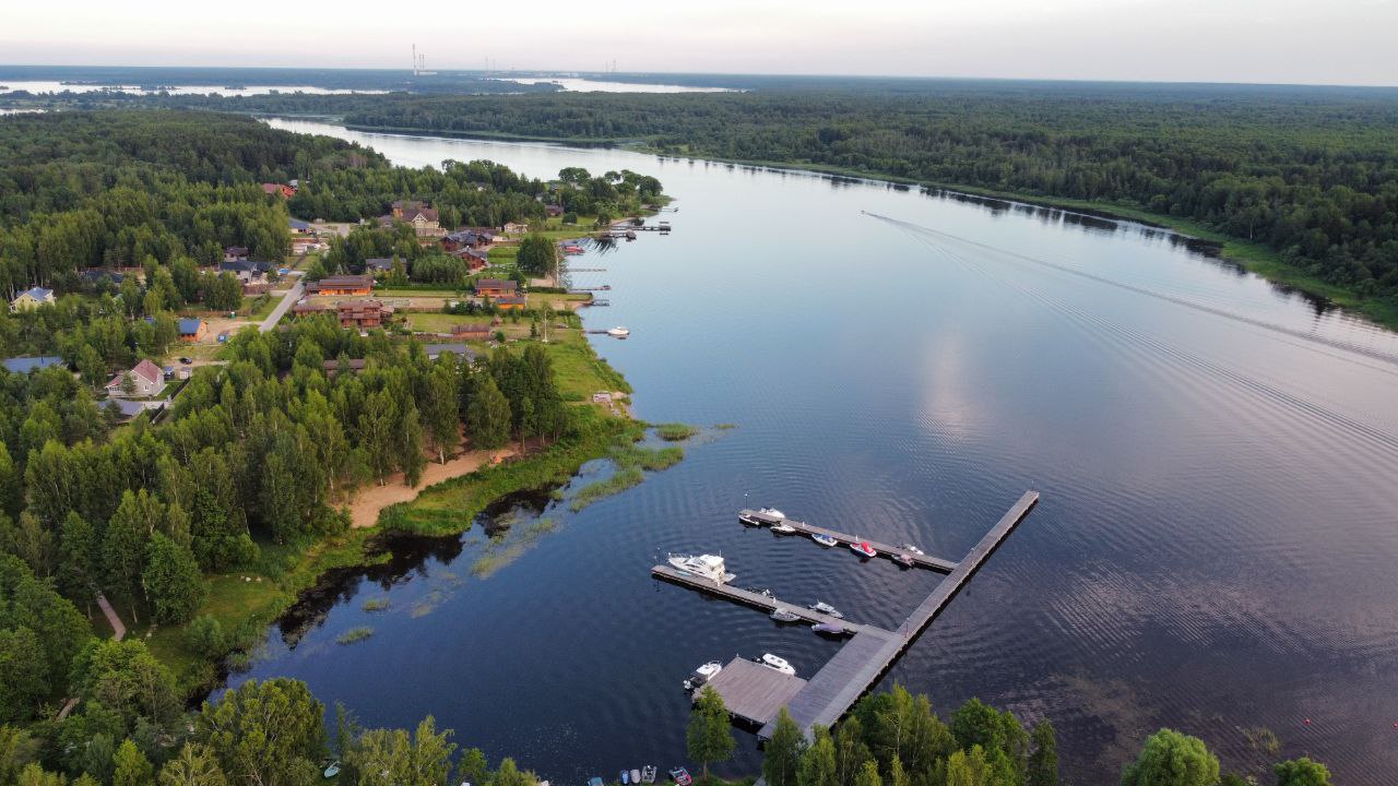
[[[893,631],[892,636],[879,636],[874,631],[860,631],[840,648],[840,652],[835,653],[829,663],[815,673],[815,677],[787,703],[791,719],[808,738],[812,726],[816,723],[833,726],[865,691],[874,687],[884,671],[946,608],[951,599],[960,592],[986,558],[1019,526],[1019,522],[1025,520],[1025,516],[1037,503],[1039,492],[1026,491],[986,533],[986,537],[980,538],[980,543],[956,564],[956,569],[942,579],[937,589]],[[762,726],[758,737],[770,740],[774,727],[776,716]]]

